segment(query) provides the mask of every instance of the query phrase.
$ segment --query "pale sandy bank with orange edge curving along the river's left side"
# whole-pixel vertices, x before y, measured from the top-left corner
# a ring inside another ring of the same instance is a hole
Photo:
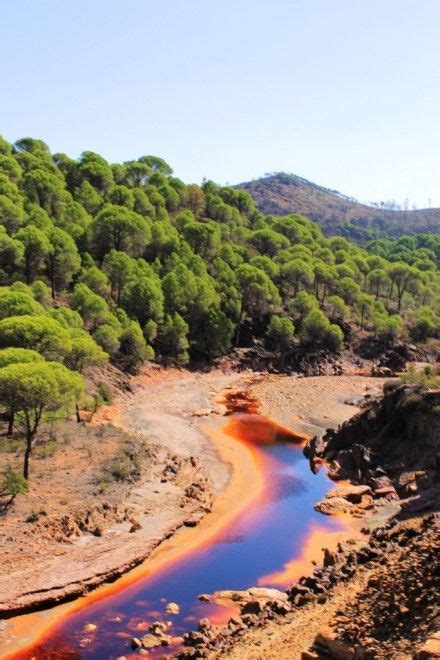
[[[380,387],[380,383],[377,379],[359,377],[347,377],[345,379],[344,377],[344,380],[340,381],[339,378],[330,377],[330,381],[325,384],[322,383],[322,387],[325,391],[329,390],[328,401],[325,405],[328,404],[330,408],[334,407],[336,412],[333,415],[339,415],[340,423],[355,411],[353,406],[344,403],[344,400],[347,397],[365,394],[367,388]],[[238,502],[240,502],[240,507],[246,506],[258,491],[258,466],[255,465],[249,450],[243,449],[243,447],[240,448],[236,441],[231,439],[229,439],[230,444],[228,446],[225,436],[219,434],[219,426],[223,419],[221,415],[224,412],[221,403],[219,403],[221,392],[231,387],[250,386],[261,400],[262,412],[267,406],[267,409],[270,409],[275,418],[278,416],[279,421],[292,424],[292,420],[281,419],[281,416],[286,414],[283,413],[283,410],[289,410],[291,406],[295,409],[295,406],[298,407],[301,400],[312,405],[313,392],[317,387],[318,389],[320,387],[319,377],[310,379],[269,377],[269,380],[270,382],[266,383],[265,377],[261,374],[238,375],[223,372],[210,372],[209,374],[170,373],[164,377],[158,377],[155,374],[151,380],[150,377],[143,376],[141,385],[147,389],[136,395],[127,412],[123,413],[121,408],[114,406],[101,413],[101,421],[105,421],[107,414],[108,419],[110,418],[118,424],[123,423],[126,428],[132,431],[139,432],[140,429],[146,429],[148,435],[157,444],[162,443],[168,452],[172,454],[181,452],[182,460],[191,460],[191,456],[196,453],[203,456],[203,469],[209,472],[212,480],[215,497],[213,513],[206,516],[196,529],[184,530],[182,533],[185,534],[185,540],[180,539],[180,543],[176,544],[174,548],[173,540],[169,542],[171,547],[168,548],[168,559],[165,556],[167,553],[165,544],[160,546],[156,551],[157,556],[152,556],[151,561],[147,562],[149,570],[156,570],[158,566],[162,565],[161,562],[175,561],[179,553],[182,553],[181,547],[183,545],[185,546],[184,552],[190,552],[192,544],[198,545],[207,541],[215,534],[217,529],[227,525],[228,520],[231,520],[236,514]],[[148,397],[146,397],[146,394],[148,394]],[[319,398],[322,399],[322,392],[319,392]],[[276,399],[279,400],[278,407],[275,403]],[[302,423],[316,427],[317,422],[321,421],[324,426],[326,413],[322,413],[321,420],[319,420],[317,418],[317,415],[318,417],[320,415],[318,410],[315,409],[314,416],[311,415],[311,410],[310,408],[309,412],[307,409],[301,411]],[[295,421],[298,423],[298,419]],[[220,450],[220,460],[207,436],[214,440],[217,451]],[[231,466],[234,466],[234,469],[231,469]],[[249,484],[253,484],[254,488],[250,490]],[[164,517],[169,520],[169,509]],[[197,520],[192,519],[190,524],[195,522]],[[132,536],[133,534],[131,534]],[[126,538],[132,543],[129,536],[126,536]],[[159,542],[160,539],[157,539],[157,543]],[[127,557],[126,550],[124,546],[124,559]],[[162,556],[159,557],[159,555]],[[139,576],[144,568],[146,566],[139,567],[134,573],[132,572],[132,574],[123,578],[123,582],[135,580],[136,575]],[[105,579],[104,575],[102,577]],[[118,588],[118,585],[121,586],[121,581],[118,581],[110,589]],[[105,597],[105,591],[106,588],[101,590],[99,594],[95,592],[91,598],[103,598]],[[65,616],[68,611],[72,611],[77,607],[81,607],[81,601],[63,606],[63,611],[59,612],[58,615]],[[23,631],[26,630],[29,639],[31,628],[32,638],[35,638],[35,635],[38,636],[38,632],[41,635],[43,629],[47,629],[48,626],[52,625],[53,620],[58,615],[53,611],[51,614],[32,615],[31,626],[29,625],[29,619],[27,623],[25,622],[26,617],[20,617],[15,621],[11,620],[5,631],[6,634],[4,634],[5,644],[7,645],[7,642],[10,641],[9,648],[12,650],[14,638],[15,641],[18,641],[18,638],[23,641]]]

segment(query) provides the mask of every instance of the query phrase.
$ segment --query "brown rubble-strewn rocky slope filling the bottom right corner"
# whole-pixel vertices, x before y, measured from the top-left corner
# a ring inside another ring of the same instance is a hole
[[[390,522],[337,552],[324,550],[322,566],[286,592],[271,589],[232,592],[240,614],[215,628],[207,619],[184,637],[179,660],[190,658],[428,658],[439,657],[436,642],[440,521],[433,514]],[[350,582],[365,587],[350,601]],[[325,618],[335,592],[345,588],[348,602],[320,626],[309,650],[289,648],[303,613]],[[322,613],[321,613],[322,610]],[[275,640],[271,640],[276,630]],[[272,644],[284,644],[272,651]],[[427,649],[431,655],[427,655]],[[409,654],[409,655],[408,655]]]

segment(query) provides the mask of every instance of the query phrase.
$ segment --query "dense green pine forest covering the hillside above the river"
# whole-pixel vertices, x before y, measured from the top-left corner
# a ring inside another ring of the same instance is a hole
[[[439,257],[435,236],[362,249],[298,214],[265,217],[246,191],[187,185],[155,156],[73,160],[2,139],[0,402],[26,439],[24,478],[41,422],[90,405],[91,364],[436,337]]]

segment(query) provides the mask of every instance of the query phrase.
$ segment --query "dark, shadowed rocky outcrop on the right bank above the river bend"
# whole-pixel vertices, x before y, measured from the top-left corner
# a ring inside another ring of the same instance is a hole
[[[313,438],[304,453],[316,471],[365,484],[376,501],[399,500],[405,511],[440,503],[440,392],[391,384],[384,396],[338,430]],[[327,506],[331,506],[328,504]]]

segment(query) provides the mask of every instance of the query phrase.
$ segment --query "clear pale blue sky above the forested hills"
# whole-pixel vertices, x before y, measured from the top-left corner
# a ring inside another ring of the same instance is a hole
[[[440,206],[439,0],[2,3],[0,132]]]

